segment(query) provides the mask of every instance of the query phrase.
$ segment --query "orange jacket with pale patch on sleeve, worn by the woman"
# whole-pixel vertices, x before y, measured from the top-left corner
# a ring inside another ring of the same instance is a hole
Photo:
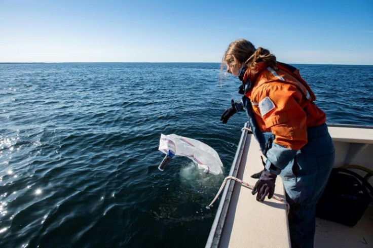
[[[276,144],[301,149],[308,141],[307,128],[326,121],[312,101],[314,94],[282,69],[267,67],[250,77],[253,87],[245,96],[251,100],[259,129],[271,131]]]

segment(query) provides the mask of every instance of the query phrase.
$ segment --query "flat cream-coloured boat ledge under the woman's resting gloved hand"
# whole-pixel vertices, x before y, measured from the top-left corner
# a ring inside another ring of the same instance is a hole
[[[259,144],[248,135],[245,146],[237,178],[255,185],[257,179],[250,176],[263,170]],[[275,194],[285,198],[282,180],[276,180]],[[251,189],[235,182],[219,246],[290,247],[286,205],[273,198],[259,202]]]

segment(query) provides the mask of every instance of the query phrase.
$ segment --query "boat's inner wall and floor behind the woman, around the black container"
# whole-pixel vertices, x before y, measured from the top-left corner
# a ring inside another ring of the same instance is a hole
[[[363,166],[373,170],[373,129],[347,127],[344,125],[329,127],[335,146],[334,167],[345,164]],[[352,170],[361,176],[358,170]],[[373,184],[373,177],[369,183]],[[354,227],[316,218],[315,247],[373,247],[373,205],[365,211]]]

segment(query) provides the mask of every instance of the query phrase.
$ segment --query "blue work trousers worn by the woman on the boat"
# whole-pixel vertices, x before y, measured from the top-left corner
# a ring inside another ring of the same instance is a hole
[[[315,208],[334,163],[334,146],[326,124],[307,130],[308,143],[282,170],[292,247],[313,247]]]

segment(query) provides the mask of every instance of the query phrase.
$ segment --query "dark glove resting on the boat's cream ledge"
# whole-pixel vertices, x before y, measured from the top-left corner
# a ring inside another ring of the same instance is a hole
[[[256,182],[251,193],[254,195],[257,192],[256,200],[264,201],[266,195],[268,194],[268,199],[271,199],[275,193],[275,182],[277,175],[264,170],[262,175],[260,175],[259,180]]]

